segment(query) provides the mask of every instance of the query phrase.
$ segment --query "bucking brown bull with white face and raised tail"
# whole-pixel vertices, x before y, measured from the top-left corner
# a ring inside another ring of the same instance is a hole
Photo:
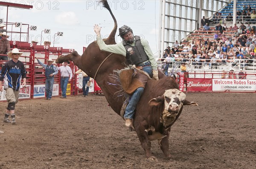
[[[102,0],[102,2],[105,8],[110,11],[115,23],[110,36],[104,41],[107,45],[116,44],[116,19],[107,0]],[[113,74],[113,70],[125,68],[127,65],[125,57],[100,51],[97,43],[92,42],[82,56],[74,51],[59,57],[56,63],[62,63],[66,60],[73,61],[88,76],[96,80],[111,108],[120,115],[123,101],[122,98],[114,97],[119,89],[114,85],[108,85],[107,82],[116,83],[113,78],[110,78],[110,74]],[[166,77],[160,70],[158,73],[160,80],[148,80],[144,93],[136,106],[133,121],[134,129],[145,150],[146,157],[151,159],[155,159],[150,152],[151,140],[158,140],[164,155],[170,158],[168,139],[171,126],[180,115],[183,105],[196,105],[194,102],[187,101],[186,95],[177,90],[178,85],[174,79]]]

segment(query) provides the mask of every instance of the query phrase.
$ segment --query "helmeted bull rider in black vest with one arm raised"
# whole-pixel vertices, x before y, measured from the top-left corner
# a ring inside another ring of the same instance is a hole
[[[99,27],[99,25],[94,25],[94,31],[97,35],[97,43],[100,50],[125,56],[128,64],[136,65],[137,68],[148,73],[151,78],[153,77],[153,79],[158,80],[157,62],[148,45],[148,41],[140,39],[139,36],[134,36],[129,26],[124,25],[119,28],[119,36],[122,38],[123,42],[115,45],[105,44],[100,35],[101,27]],[[142,82],[145,87],[148,76],[143,73],[136,73],[135,77]],[[132,125],[134,110],[144,91],[144,87],[138,87],[137,90],[134,91],[125,109],[124,118],[125,126],[127,127],[131,127]]]

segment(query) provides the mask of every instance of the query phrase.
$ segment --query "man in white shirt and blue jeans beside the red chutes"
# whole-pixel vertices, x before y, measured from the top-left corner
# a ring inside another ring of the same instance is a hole
[[[58,70],[61,71],[61,93],[62,93],[62,96],[60,98],[66,99],[67,98],[67,95],[66,95],[67,83],[71,82],[73,73],[72,73],[71,68],[68,66],[68,64],[70,64],[69,61],[65,61],[63,64],[64,65],[61,67],[57,67],[57,66],[56,67]]]

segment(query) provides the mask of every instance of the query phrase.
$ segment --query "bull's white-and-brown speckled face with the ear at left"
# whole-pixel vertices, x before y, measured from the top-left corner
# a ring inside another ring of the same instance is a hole
[[[164,126],[169,126],[178,115],[185,99],[186,95],[180,90],[169,89],[165,91],[162,97],[151,99],[149,104],[157,106],[164,103],[164,110],[160,122]]]

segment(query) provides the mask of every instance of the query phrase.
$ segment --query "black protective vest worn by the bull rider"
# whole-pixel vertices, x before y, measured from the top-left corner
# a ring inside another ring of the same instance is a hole
[[[148,56],[141,45],[140,37],[135,36],[135,46],[131,46],[123,41],[126,50],[126,60],[131,65],[139,65],[148,60]]]

